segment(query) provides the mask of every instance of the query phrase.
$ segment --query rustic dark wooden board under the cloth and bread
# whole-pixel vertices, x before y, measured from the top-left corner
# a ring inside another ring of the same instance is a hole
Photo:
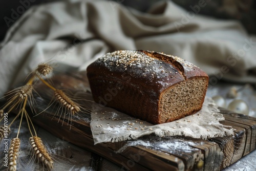
[[[69,90],[73,94],[86,92],[84,98],[90,96],[84,72],[57,75],[52,81],[55,88]],[[37,104],[40,104],[36,106],[36,111],[40,112],[47,108],[52,97],[46,93],[44,84],[39,84],[35,90],[40,94],[40,97],[34,94]],[[87,108],[90,108],[89,103]],[[150,135],[140,138],[149,146],[127,146],[121,153],[116,151],[133,141],[94,145],[89,122],[73,117],[70,130],[67,117],[63,124],[62,120],[58,122],[59,116],[54,115],[53,107],[33,117],[33,121],[53,135],[103,156],[124,170],[221,170],[255,149],[256,118],[220,110],[225,117],[221,123],[236,129],[234,136],[201,140]],[[81,116],[90,120],[88,114]]]

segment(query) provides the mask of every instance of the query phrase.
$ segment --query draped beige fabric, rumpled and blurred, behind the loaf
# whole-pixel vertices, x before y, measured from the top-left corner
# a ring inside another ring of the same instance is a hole
[[[170,1],[147,13],[112,1],[32,7],[9,29],[0,48],[1,95],[39,62],[58,62],[56,70],[84,70],[106,52],[131,49],[180,56],[214,75],[210,84],[222,77],[256,82],[255,36],[236,21],[203,17]]]

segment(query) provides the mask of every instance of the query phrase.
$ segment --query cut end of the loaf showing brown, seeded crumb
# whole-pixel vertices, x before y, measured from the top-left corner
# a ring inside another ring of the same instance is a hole
[[[207,77],[192,77],[167,88],[160,95],[159,122],[174,121],[198,112],[207,86]]]

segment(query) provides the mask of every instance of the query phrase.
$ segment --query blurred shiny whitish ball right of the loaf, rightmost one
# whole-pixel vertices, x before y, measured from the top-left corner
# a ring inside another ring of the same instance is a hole
[[[241,99],[233,100],[231,103],[229,103],[227,109],[236,113],[249,115],[249,106],[244,100]]]

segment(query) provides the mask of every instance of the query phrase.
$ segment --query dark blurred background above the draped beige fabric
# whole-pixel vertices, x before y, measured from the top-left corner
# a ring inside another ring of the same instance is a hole
[[[4,39],[8,28],[34,5],[57,0],[9,0],[0,3],[0,41]],[[111,0],[105,0],[111,1]],[[159,0],[112,0],[139,11],[147,11]],[[169,0],[170,1],[170,0]],[[184,9],[190,11],[191,6],[198,5],[203,0],[172,0]],[[205,0],[207,6],[201,8],[199,14],[221,19],[239,20],[249,34],[256,34],[256,1],[253,0]]]

